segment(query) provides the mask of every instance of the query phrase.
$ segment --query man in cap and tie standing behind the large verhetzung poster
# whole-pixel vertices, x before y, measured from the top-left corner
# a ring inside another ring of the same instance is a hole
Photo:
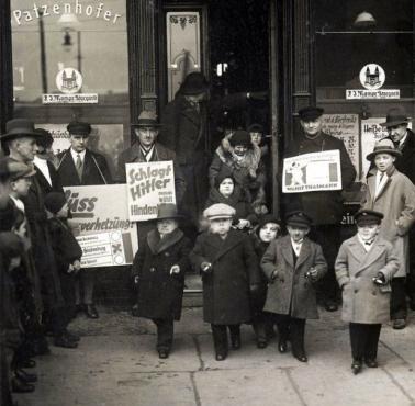
[[[57,171],[61,184],[64,187],[75,187],[112,183],[105,157],[88,148],[88,139],[92,131],[91,125],[72,121],[66,128],[69,132],[70,148],[57,156]],[[77,311],[85,311],[89,318],[99,317],[93,304],[96,273],[97,270],[82,269],[79,272],[75,290]]]

